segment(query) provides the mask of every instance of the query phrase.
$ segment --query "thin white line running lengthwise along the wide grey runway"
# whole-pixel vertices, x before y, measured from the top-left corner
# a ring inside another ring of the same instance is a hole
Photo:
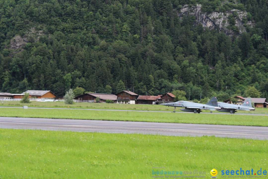
[[[0,120],[0,122],[36,122],[36,123],[63,123],[63,124],[80,124],[84,125],[87,123],[69,123],[69,122],[42,122],[42,121],[11,121],[11,120]],[[88,123],[92,125],[92,123]],[[94,124],[93,124],[94,125]],[[185,128],[185,129],[211,129],[211,128],[195,128],[195,127],[169,127],[169,126],[141,126],[141,125],[124,125],[124,124],[97,124],[97,125],[110,125],[110,126],[133,126],[133,127],[162,127],[162,128]],[[213,129],[212,129],[213,130]],[[214,129],[214,130],[235,130],[235,131],[250,131],[250,132],[267,132],[265,130],[258,131],[258,130],[237,130],[237,129]]]

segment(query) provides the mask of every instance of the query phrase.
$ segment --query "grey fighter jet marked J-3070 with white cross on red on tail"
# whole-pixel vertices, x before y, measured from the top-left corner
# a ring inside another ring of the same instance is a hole
[[[231,114],[235,114],[235,112],[237,112],[236,110],[244,110],[244,111],[255,110],[255,108],[252,108],[250,98],[247,98],[247,100],[242,105],[218,102],[218,107],[221,107],[221,109],[217,109],[217,111],[230,112]]]

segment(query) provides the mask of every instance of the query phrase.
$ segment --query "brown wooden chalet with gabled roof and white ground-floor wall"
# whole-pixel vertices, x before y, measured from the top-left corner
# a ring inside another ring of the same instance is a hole
[[[117,96],[117,102],[121,104],[136,104],[136,99],[139,96],[136,93],[133,93],[131,91],[121,91],[119,93],[114,94]]]

